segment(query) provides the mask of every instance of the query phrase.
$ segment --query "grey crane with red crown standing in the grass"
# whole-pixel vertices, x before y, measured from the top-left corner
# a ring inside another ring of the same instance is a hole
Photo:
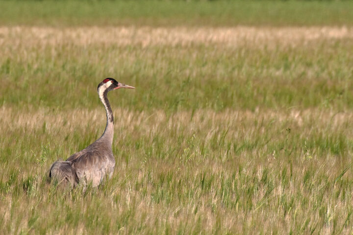
[[[97,187],[106,176],[108,179],[112,177],[115,167],[112,151],[114,117],[107,94],[120,88],[135,89],[110,77],[105,78],[98,85],[97,92],[106,112],[106,126],[103,134],[98,140],[74,153],[66,161],[54,162],[50,166],[50,180],[56,179],[59,184],[69,184],[73,188],[81,182],[84,187],[90,183],[92,187]]]

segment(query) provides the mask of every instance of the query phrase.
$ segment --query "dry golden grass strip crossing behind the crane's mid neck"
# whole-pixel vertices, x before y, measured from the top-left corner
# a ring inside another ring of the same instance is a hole
[[[102,108],[93,110],[66,110],[65,112],[52,112],[48,109],[27,109],[24,114],[19,113],[21,110],[13,107],[0,107],[0,120],[5,126],[13,126],[15,128],[26,128],[28,130],[40,129],[42,124],[46,123],[47,128],[61,128],[64,124],[68,125],[83,125],[85,126],[85,118],[89,118],[89,122],[96,125],[97,123],[104,124],[102,120],[105,118],[105,113]],[[57,114],[59,112],[60,114]],[[133,131],[134,126],[143,128],[143,132],[151,134],[155,128],[160,129],[165,123],[170,129],[179,129],[182,125],[187,125],[190,131],[193,128],[202,129],[207,125],[217,126],[219,123],[228,126],[230,133],[239,135],[239,123],[244,123],[249,120],[271,120],[276,119],[279,122],[288,121],[291,125],[303,127],[309,120],[320,120],[317,123],[318,128],[323,128],[330,124],[332,129],[344,128],[350,120],[353,119],[353,112],[337,112],[333,110],[321,109],[296,109],[290,108],[286,110],[230,110],[214,111],[214,110],[197,110],[197,111],[179,111],[172,115],[167,115],[163,110],[154,110],[150,112],[137,112],[122,108],[115,108],[115,121],[119,128],[123,128],[127,132]],[[95,124],[96,123],[96,124]],[[153,123],[153,125],[151,125]],[[324,126],[320,126],[323,124]],[[173,125],[173,126],[171,126]],[[236,126],[233,126],[236,125]],[[83,127],[82,126],[82,127]],[[73,131],[67,130],[67,131]],[[349,131],[349,130],[348,130]],[[228,134],[230,134],[228,132]]]

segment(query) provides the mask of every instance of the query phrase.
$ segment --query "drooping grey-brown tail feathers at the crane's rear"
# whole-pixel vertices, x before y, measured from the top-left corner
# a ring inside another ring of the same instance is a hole
[[[78,183],[76,171],[71,162],[61,160],[54,162],[50,167],[49,177],[56,179],[58,183],[70,183],[72,186],[76,186]]]

